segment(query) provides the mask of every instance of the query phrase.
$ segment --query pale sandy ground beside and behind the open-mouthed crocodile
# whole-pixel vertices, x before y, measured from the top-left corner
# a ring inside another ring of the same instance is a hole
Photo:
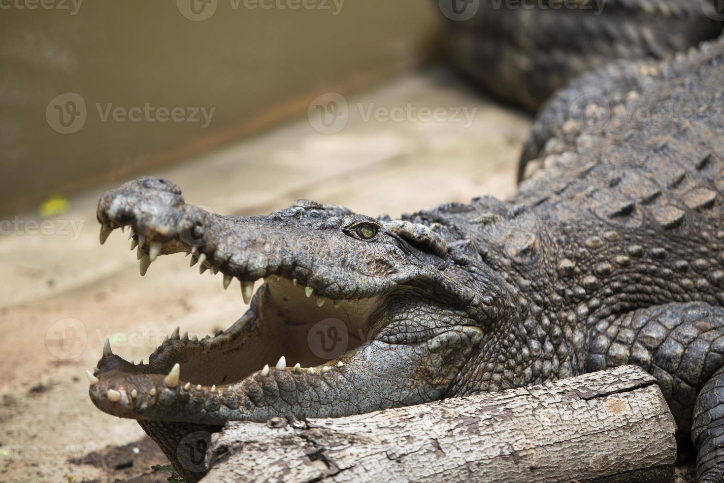
[[[267,214],[304,197],[395,217],[513,192],[529,117],[439,70],[346,100],[350,118],[339,133],[318,133],[299,119],[148,174],[176,182],[188,203],[224,214]],[[445,108],[448,119],[366,119],[408,104]],[[455,120],[463,106],[476,109],[470,123],[463,114]],[[245,311],[237,290],[222,290],[220,276],[200,276],[180,255],[161,257],[140,277],[125,235],[117,230],[98,245],[96,203],[114,187],[80,194],[42,232],[31,217],[10,220],[15,232],[0,238],[1,481],[165,481],[150,469],[165,462],[160,450],[135,421],[90,403],[84,371],[106,337],[114,353],[147,360],[176,325],[203,337]]]

